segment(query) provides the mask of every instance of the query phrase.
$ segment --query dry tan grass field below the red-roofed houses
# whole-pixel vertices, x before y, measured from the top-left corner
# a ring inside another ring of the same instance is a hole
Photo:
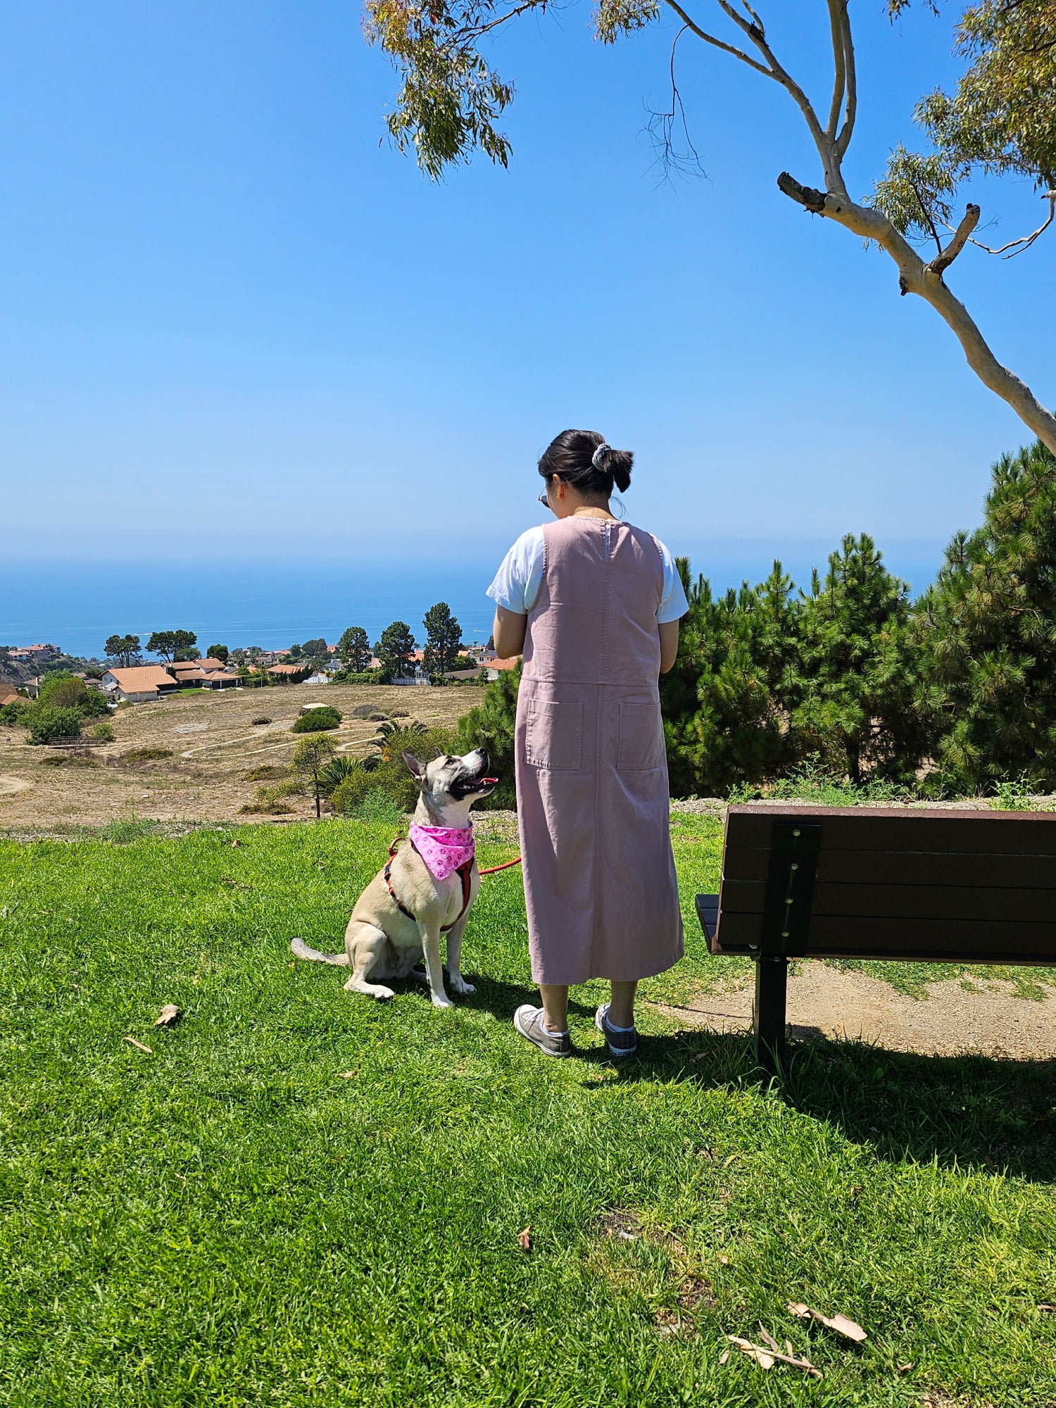
[[[476,703],[474,687],[429,689],[369,684],[290,684],[266,690],[200,690],[113,715],[113,743],[80,753],[34,748],[23,729],[0,729],[0,829],[37,831],[100,825],[137,815],[161,821],[270,821],[239,817],[260,779],[246,773],[284,769],[297,735],[290,725],[307,703],[344,715],[332,735],[338,750],[362,756],[377,722],[353,718],[359,707],[424,724],[453,725]],[[268,724],[253,719],[268,718]],[[144,756],[144,750],[155,756]],[[139,756],[137,756],[139,755]],[[307,797],[289,798],[283,819],[307,817]]]

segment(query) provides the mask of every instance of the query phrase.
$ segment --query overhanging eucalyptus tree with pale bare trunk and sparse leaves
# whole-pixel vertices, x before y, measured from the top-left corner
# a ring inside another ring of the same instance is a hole
[[[935,0],[925,3],[936,8]],[[821,6],[821,0],[815,4]],[[894,17],[908,4],[888,0],[888,10]],[[510,142],[497,124],[514,87],[490,66],[483,45],[501,25],[556,8],[555,0],[366,0],[366,8],[367,37],[380,44],[403,77],[387,117],[396,145],[414,149],[434,179],[477,149],[505,166]],[[822,8],[832,63],[832,87],[822,104],[781,62],[763,17],[749,0],[598,0],[594,25],[597,38],[612,44],[670,13],[681,21],[676,44],[689,35],[741,63],[758,80],[781,87],[812,141],[818,163],[814,179],[819,184],[807,184],[783,170],[777,175],[779,189],[811,214],[883,249],[895,265],[901,293],[924,298],[939,314],[976,376],[1056,453],[1056,417],[997,359],[946,283],[953,260],[974,244],[981,214],[979,206],[967,204],[952,224],[960,182],[984,170],[1028,173],[1052,184],[1055,8],[1053,0],[981,0],[967,8],[957,42],[973,62],[953,97],[931,94],[917,111],[932,153],[919,158],[904,149],[895,152],[872,194],[857,200],[843,175],[859,110],[859,56],[849,0],[825,0]],[[673,63],[672,54],[672,72]],[[673,111],[677,101],[676,90]],[[1046,199],[1052,210],[1056,193],[1049,190]],[[1041,230],[1017,241],[1017,248],[1029,246]],[[934,256],[918,252],[922,238],[935,239]],[[1004,246],[994,252],[1010,251]]]

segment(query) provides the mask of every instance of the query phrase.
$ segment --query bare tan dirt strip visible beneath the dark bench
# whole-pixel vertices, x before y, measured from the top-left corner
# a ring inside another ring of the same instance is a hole
[[[943,981],[931,983],[926,998],[915,998],[867,973],[805,962],[788,979],[788,1022],[793,1036],[821,1032],[888,1050],[1056,1057],[1056,991],[1028,1001],[1011,988],[1011,983],[977,983],[969,991]],[[704,993],[690,1008],[656,1005],[687,1026],[715,1032],[742,1032],[752,1024],[750,986]]]

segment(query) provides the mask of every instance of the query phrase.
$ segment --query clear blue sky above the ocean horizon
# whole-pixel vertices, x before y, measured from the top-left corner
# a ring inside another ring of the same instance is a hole
[[[821,99],[824,6],[767,8]],[[949,17],[883,10],[852,3],[859,194],[956,72]],[[658,182],[666,21],[603,48],[582,4],[503,34],[511,168],[431,184],[384,139],[396,77],[352,4],[0,15],[8,563],[487,565],[539,521],[539,451],[586,425],[636,452],[628,514],[704,572],[867,531],[919,583],[1028,439],[884,256],[779,194],[818,172],[774,84],[683,41],[707,179]],[[1002,238],[1042,210],[976,194]],[[949,276],[1048,404],[1055,272],[1050,238]]]

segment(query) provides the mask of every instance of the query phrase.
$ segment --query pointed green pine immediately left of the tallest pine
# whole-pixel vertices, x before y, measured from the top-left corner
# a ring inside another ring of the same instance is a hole
[[[912,777],[925,735],[915,710],[908,586],[867,534],[848,534],[817,570],[798,622],[798,681],[788,703],[801,753],[818,753],[852,783]]]

